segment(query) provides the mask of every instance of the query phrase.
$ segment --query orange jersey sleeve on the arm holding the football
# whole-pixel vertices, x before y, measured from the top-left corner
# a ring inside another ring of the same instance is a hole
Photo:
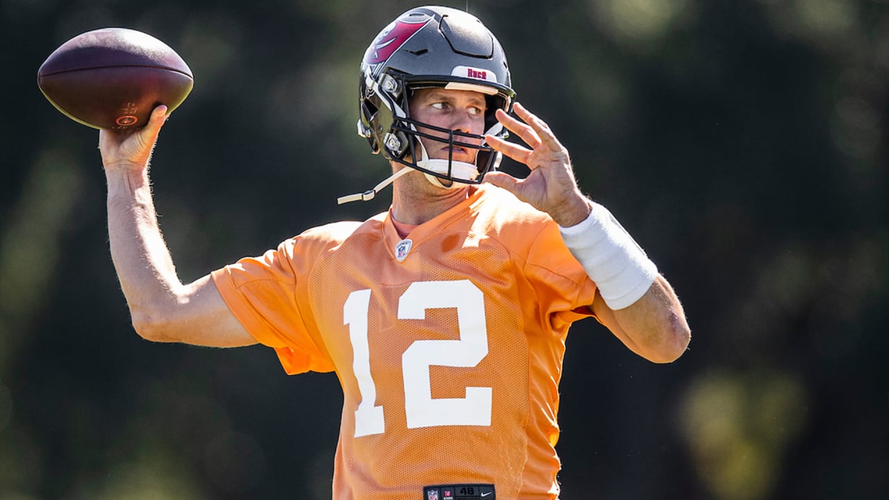
[[[300,280],[305,278],[293,262],[305,256],[297,254],[297,248],[292,238],[211,276],[228,309],[257,342],[275,349],[286,373],[329,372],[331,361],[303,317],[309,309],[300,299]]]

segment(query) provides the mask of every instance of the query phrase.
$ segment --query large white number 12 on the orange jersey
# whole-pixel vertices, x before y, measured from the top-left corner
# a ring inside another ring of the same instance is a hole
[[[355,437],[386,431],[383,407],[374,406],[377,388],[371,375],[367,315],[371,291],[356,290],[343,305],[354,357],[352,370],[361,393],[355,411]],[[418,340],[401,357],[407,427],[491,425],[490,387],[467,387],[465,398],[432,398],[429,367],[475,367],[488,354],[485,298],[468,279],[420,281],[398,299],[398,319],[426,319],[427,309],[455,308],[459,340]]]

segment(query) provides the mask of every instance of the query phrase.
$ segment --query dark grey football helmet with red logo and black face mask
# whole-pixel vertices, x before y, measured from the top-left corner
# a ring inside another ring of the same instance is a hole
[[[477,184],[496,169],[501,154],[487,146],[482,135],[413,120],[408,101],[414,89],[424,87],[484,93],[485,134],[505,137],[494,112],[511,109],[515,92],[510,85],[501,44],[480,20],[448,7],[417,7],[380,31],[364,52],[358,134],[367,139],[374,154],[381,151],[389,160],[420,170],[436,185]],[[439,137],[420,133],[418,127],[433,130]],[[476,163],[429,159],[419,137],[477,149]]]

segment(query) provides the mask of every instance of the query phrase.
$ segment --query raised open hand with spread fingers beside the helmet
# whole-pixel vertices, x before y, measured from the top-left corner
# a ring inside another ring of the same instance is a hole
[[[516,103],[513,109],[522,121],[501,109],[497,110],[497,119],[525,141],[528,148],[492,135],[486,136],[485,141],[493,149],[527,165],[531,173],[525,179],[517,179],[509,173],[491,172],[485,174],[485,181],[509,190],[516,198],[546,212],[562,227],[583,221],[591,208],[589,199],[577,187],[568,149],[556,139],[549,125],[524,106]]]

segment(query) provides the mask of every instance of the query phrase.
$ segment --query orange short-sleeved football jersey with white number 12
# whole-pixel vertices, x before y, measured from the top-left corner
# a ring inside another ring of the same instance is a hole
[[[549,216],[483,185],[407,238],[334,223],[212,278],[287,373],[339,376],[335,500],[557,497],[565,335],[596,286]]]

